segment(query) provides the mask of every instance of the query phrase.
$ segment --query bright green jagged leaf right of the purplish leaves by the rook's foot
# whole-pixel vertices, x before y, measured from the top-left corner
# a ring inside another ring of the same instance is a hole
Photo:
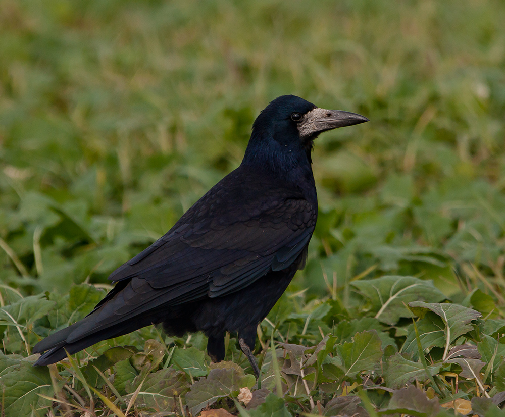
[[[344,376],[353,378],[362,371],[372,371],[382,357],[382,342],[376,330],[356,333],[352,342],[336,345]]]

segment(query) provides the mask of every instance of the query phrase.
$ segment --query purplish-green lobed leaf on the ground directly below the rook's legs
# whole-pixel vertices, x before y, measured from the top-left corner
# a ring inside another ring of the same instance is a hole
[[[209,375],[191,385],[190,392],[186,394],[186,404],[193,415],[220,398],[236,398],[240,388],[251,388],[256,383],[254,375],[245,375],[233,362],[220,362],[213,367]]]

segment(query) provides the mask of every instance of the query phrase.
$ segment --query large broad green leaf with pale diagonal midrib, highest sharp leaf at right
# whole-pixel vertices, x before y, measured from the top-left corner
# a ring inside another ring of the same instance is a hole
[[[402,317],[411,317],[403,305],[414,300],[441,301],[445,296],[434,287],[432,281],[414,277],[385,276],[374,280],[351,283],[371,303],[375,318],[394,325]]]

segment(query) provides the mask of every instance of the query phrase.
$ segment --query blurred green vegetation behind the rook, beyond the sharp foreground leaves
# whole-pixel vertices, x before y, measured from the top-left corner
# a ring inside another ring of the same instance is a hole
[[[0,279],[107,283],[296,94],[371,122],[316,141],[290,291],[346,305],[350,280],[410,274],[503,301],[503,22],[502,0],[0,0]]]

